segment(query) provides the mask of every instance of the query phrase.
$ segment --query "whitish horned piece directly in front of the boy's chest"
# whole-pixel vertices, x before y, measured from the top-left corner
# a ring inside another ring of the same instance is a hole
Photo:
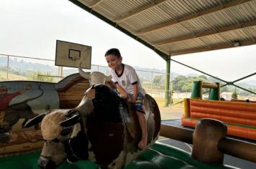
[[[111,81],[111,75],[106,76],[101,72],[91,72],[91,74],[83,72],[83,69],[81,69],[81,63],[79,64],[78,70],[81,77],[89,80],[91,86],[93,84],[105,84],[106,82]]]

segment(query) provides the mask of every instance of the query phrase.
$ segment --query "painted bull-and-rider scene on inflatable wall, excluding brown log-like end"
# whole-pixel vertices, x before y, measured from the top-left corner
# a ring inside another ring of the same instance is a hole
[[[52,83],[0,82],[0,155],[13,151],[9,150],[12,145],[40,147],[43,140],[40,126],[25,129],[24,125],[40,113],[57,108],[59,97]]]

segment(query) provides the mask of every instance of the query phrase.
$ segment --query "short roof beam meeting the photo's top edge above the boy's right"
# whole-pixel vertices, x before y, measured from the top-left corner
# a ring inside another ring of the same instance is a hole
[[[150,9],[150,8],[152,8],[154,6],[157,6],[158,4],[160,4],[160,3],[164,2],[164,1],[167,1],[167,0],[155,0],[155,1],[152,1],[152,3],[150,3],[150,4],[146,5],[146,6],[143,6],[140,9],[137,9],[135,11],[132,11],[132,12],[128,13],[128,14],[124,14],[124,15],[120,16],[118,19],[115,20],[115,22],[119,23],[121,21],[129,19],[130,17],[132,17],[132,16],[134,16],[136,14],[140,14],[140,12],[145,11],[147,9]]]

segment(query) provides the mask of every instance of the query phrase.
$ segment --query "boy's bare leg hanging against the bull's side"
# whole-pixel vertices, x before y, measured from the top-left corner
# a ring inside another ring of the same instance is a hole
[[[146,123],[146,117],[145,114],[142,112],[136,111],[138,120],[140,123],[140,129],[142,130],[142,138],[138,144],[138,147],[141,149],[145,149],[147,146],[147,123]]]

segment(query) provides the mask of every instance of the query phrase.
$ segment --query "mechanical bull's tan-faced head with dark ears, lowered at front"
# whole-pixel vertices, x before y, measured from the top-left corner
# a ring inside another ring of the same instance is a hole
[[[42,122],[41,130],[45,145],[38,160],[40,168],[55,168],[66,158],[70,158],[71,161],[79,159],[73,150],[70,150],[69,141],[71,135],[74,135],[74,125],[80,120],[81,116],[76,110],[52,110],[27,122],[25,127]]]

